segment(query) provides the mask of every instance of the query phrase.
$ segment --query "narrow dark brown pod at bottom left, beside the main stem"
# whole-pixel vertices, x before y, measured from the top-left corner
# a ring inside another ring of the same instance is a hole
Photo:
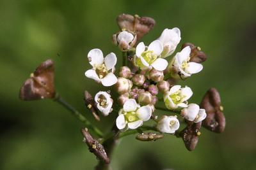
[[[84,136],[84,142],[89,147],[90,152],[94,153],[97,158],[105,162],[106,164],[110,163],[110,159],[107,153],[104,150],[104,147],[92,137],[92,135],[88,132],[87,128],[81,129],[81,132]]]

